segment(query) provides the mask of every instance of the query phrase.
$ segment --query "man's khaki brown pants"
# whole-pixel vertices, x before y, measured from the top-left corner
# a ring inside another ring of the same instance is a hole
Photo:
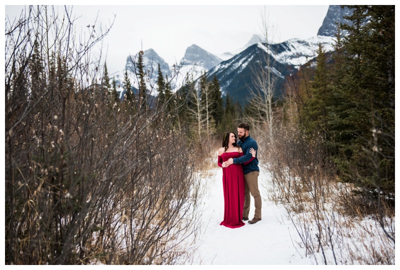
[[[250,211],[250,193],[254,198],[254,218],[261,219],[261,196],[258,190],[258,171],[252,171],[244,175],[244,206],[243,217],[248,217]]]

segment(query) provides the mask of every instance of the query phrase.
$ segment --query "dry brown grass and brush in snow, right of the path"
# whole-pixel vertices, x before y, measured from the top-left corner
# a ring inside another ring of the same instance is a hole
[[[295,129],[282,128],[275,138],[260,146],[269,149],[265,188],[287,210],[305,256],[326,265],[393,265],[394,208],[384,201],[378,208],[359,188],[337,182],[317,136],[305,143]]]

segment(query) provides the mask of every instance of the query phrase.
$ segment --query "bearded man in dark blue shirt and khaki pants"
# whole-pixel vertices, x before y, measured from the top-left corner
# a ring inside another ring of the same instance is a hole
[[[250,127],[246,123],[240,123],[237,126],[237,136],[240,141],[237,142],[237,145],[241,147],[243,150],[244,156],[239,158],[230,158],[226,161],[226,165],[230,164],[238,164],[244,163],[251,159],[251,154],[249,152],[250,148],[254,150],[258,150],[257,143],[253,138],[248,135]],[[257,151],[258,152],[258,151]],[[258,159],[257,153],[255,154],[255,158],[249,162],[248,164],[242,164],[243,173],[244,173],[244,206],[243,206],[243,219],[244,221],[248,220],[248,212],[250,211],[250,193],[254,199],[254,217],[252,220],[248,221],[249,224],[257,223],[261,220],[261,196],[258,190]]]

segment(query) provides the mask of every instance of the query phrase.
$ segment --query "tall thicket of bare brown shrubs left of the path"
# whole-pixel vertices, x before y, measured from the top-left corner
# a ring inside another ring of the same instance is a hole
[[[5,21],[5,264],[184,262],[212,148],[198,142],[225,113],[217,81],[172,94],[139,52],[121,99],[92,56],[112,24],[74,22],[51,6]]]

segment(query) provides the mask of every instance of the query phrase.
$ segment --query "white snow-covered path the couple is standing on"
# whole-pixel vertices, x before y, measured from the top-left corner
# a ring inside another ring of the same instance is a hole
[[[285,210],[266,200],[261,181],[266,181],[262,169],[258,179],[262,220],[230,229],[219,225],[223,219],[222,169],[210,171],[204,179],[202,229],[193,265],[315,265],[314,259],[305,258],[304,250],[293,245],[292,240],[298,241],[297,233],[286,219]],[[253,214],[251,198],[249,219]]]

